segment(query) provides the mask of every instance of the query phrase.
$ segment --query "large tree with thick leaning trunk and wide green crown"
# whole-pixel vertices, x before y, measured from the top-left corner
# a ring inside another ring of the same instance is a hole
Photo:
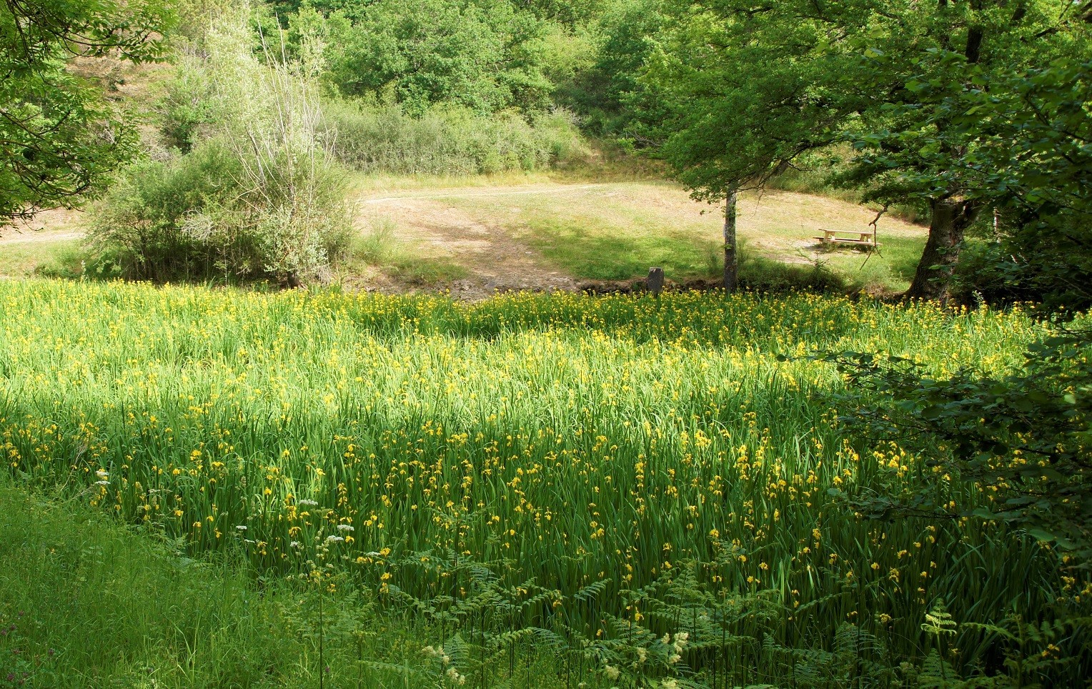
[[[697,198],[713,200],[761,187],[802,153],[852,143],[835,181],[883,204],[924,199],[929,238],[907,296],[946,298],[964,233],[987,202],[930,103],[975,80],[985,87],[1078,59],[1078,10],[1064,0],[680,2],[646,75],[670,94],[665,157]],[[919,84],[937,91],[924,98]],[[907,133],[938,147],[898,147]]]

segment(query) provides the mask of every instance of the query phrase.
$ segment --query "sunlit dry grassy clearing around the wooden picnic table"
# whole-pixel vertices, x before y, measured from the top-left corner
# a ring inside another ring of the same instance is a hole
[[[723,270],[723,209],[692,201],[676,183],[644,178],[596,178],[580,170],[553,175],[468,178],[359,177],[358,213],[391,228],[403,252],[473,268],[480,254],[463,240],[492,235],[518,243],[547,269],[578,280],[630,280],[664,268],[685,282],[719,278]],[[821,268],[832,281],[862,289],[905,289],[925,245],[925,229],[886,217],[880,250],[822,250],[822,229],[870,231],[876,213],[850,201],[809,193],[745,194],[739,209],[745,283],[800,284]],[[478,227],[478,233],[467,233]],[[366,236],[376,233],[366,229]],[[476,249],[479,251],[479,249]],[[396,262],[395,273],[397,273]],[[787,274],[795,274],[795,281]]]

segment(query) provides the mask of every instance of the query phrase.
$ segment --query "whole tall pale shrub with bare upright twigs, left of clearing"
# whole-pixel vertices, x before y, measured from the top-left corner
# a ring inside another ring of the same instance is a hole
[[[263,64],[251,41],[245,14],[209,32],[167,118],[176,145],[192,151],[130,167],[97,205],[92,242],[126,276],[297,286],[325,282],[344,251],[343,175],[319,131],[312,75]]]

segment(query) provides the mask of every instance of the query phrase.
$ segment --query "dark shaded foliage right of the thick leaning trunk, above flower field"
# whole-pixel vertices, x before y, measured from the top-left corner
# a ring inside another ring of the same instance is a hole
[[[996,242],[982,246],[961,271],[964,298],[977,292],[989,301],[1036,300],[1070,313],[1092,304],[1090,70],[1090,61],[1059,60],[994,76],[988,91],[972,71],[971,85],[936,98],[934,117],[947,123],[940,134],[903,142],[966,151],[949,174],[962,178],[968,195],[996,209]],[[933,93],[924,83],[917,91]],[[977,120],[990,127],[983,131]],[[875,165],[887,165],[887,157],[874,154]]]

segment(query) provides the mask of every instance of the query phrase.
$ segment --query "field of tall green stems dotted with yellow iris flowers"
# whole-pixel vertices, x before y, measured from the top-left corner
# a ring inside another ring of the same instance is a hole
[[[364,592],[475,686],[542,654],[565,686],[916,686],[930,651],[999,666],[976,625],[1087,605],[1034,539],[830,496],[928,470],[851,439],[808,355],[1004,371],[1046,332],[1019,309],[31,281],[0,283],[0,317],[21,484],[259,581]],[[938,604],[952,635],[922,627]]]

